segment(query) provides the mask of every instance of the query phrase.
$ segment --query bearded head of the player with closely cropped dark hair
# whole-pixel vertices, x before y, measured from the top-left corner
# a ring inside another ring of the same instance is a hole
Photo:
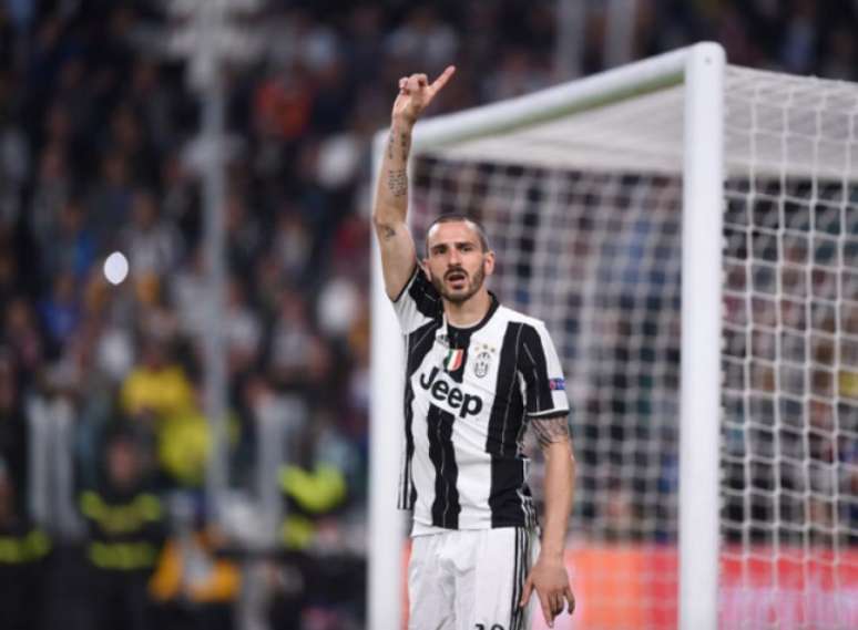
[[[483,251],[480,237],[467,221],[436,224],[427,239],[423,261],[435,288],[450,302],[469,300],[494,269],[494,254]]]

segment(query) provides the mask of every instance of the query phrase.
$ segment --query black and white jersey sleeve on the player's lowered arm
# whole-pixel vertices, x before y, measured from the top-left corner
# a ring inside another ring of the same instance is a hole
[[[525,324],[520,343],[519,372],[524,380],[528,415],[548,417],[569,413],[563,368],[544,324]]]

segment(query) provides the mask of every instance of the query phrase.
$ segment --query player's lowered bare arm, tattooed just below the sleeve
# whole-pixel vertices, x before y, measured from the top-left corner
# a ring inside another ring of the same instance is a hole
[[[524,606],[531,591],[535,590],[545,621],[553,628],[554,618],[564,608],[568,607],[570,613],[575,609],[563,559],[575,487],[575,458],[565,414],[533,417],[530,422],[545,456],[545,515],[542,545],[524,583],[521,605]]]

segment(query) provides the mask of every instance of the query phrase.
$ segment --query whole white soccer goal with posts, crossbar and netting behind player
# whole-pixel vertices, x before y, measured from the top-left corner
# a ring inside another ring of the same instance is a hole
[[[858,627],[857,117],[856,84],[702,43],[417,125],[417,242],[480,219],[490,288],[564,364],[559,630]],[[392,630],[404,362],[375,242],[372,269],[367,627]]]

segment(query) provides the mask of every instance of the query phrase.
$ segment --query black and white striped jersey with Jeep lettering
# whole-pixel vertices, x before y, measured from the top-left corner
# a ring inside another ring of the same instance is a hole
[[[493,295],[482,321],[449,326],[419,268],[394,308],[407,352],[398,504],[413,509],[413,534],[535,526],[524,430],[569,412],[545,326]]]

